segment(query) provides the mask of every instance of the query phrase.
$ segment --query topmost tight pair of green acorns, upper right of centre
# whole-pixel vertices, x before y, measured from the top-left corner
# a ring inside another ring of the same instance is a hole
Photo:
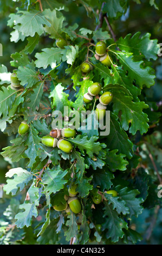
[[[103,65],[108,67],[112,65],[113,60],[107,52],[107,45],[105,42],[99,41],[96,43],[95,53],[96,60],[100,60]]]

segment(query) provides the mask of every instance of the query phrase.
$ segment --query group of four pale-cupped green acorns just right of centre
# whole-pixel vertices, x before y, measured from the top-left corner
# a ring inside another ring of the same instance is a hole
[[[92,86],[88,88],[88,93],[85,93],[83,95],[83,101],[85,103],[89,103],[90,101],[93,100],[93,96],[96,96],[100,93],[101,91],[101,84],[96,82],[93,83]],[[111,92],[105,92],[99,97],[100,103],[96,106],[95,113],[96,113],[96,118],[98,120],[103,119],[105,117],[106,113],[106,106],[108,105],[109,102],[111,102],[113,99],[113,94]]]

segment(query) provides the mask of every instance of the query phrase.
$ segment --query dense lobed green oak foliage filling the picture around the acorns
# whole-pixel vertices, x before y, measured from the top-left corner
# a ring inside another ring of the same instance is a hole
[[[162,243],[161,11],[160,0],[0,2],[0,244]],[[95,57],[101,40],[109,67]],[[99,103],[83,102],[93,83],[99,96],[113,94],[107,136],[81,124],[81,111]],[[80,114],[69,153],[41,141],[53,111],[63,127],[72,121],[64,106]],[[20,135],[23,120],[29,129]],[[72,184],[80,213],[54,210]]]

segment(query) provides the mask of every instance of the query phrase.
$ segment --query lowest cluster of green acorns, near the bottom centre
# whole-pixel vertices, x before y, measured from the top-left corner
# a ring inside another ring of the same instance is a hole
[[[82,206],[80,200],[76,197],[76,194],[78,193],[76,188],[77,185],[73,183],[72,186],[68,188],[69,196],[64,196],[66,203],[63,204],[60,202],[59,205],[54,205],[53,208],[56,211],[66,211],[68,215],[70,215],[70,210],[72,210],[74,214],[79,214],[79,212],[82,210]]]

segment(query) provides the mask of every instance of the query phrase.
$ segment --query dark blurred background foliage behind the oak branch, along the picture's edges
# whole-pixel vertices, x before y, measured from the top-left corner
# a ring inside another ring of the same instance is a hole
[[[24,5],[27,5],[28,1],[21,1]],[[96,27],[96,17],[93,15],[93,12],[90,13],[90,17],[87,16],[87,9],[84,4],[85,1],[72,1],[72,0],[62,0],[61,3],[64,3],[66,6],[66,10],[63,10],[63,15],[66,16],[66,21],[68,25],[73,25],[75,22],[79,24],[79,27],[86,27],[88,29],[94,30]],[[88,1],[87,1],[88,2]],[[98,7],[100,10],[101,3],[100,1],[94,1],[94,3],[98,2]],[[150,5],[149,0],[141,0],[141,4],[137,4],[139,1],[131,1],[129,0],[128,8],[126,7],[126,13],[122,16],[118,17],[116,20],[109,19],[109,22],[112,24],[112,28],[114,33],[116,34],[116,38],[119,39],[120,36],[123,38],[131,33],[135,34],[140,31],[141,35],[145,33],[151,34],[151,39],[158,39],[158,42],[162,43],[162,1],[156,0],[155,2],[158,6],[158,9],[153,5]],[[15,52],[20,52],[25,45],[27,45],[27,40],[24,41],[19,40],[16,44],[15,42],[10,41],[10,33],[12,32],[12,28],[7,26],[10,13],[15,12],[15,7],[20,6],[22,3],[20,1],[12,1],[12,0],[1,0],[0,1],[0,31],[1,31],[1,44],[3,45],[3,56],[0,57],[0,64],[7,66],[8,71],[12,72],[12,66],[10,66],[11,54]],[[76,8],[77,5],[77,8]],[[68,8],[68,11],[67,11]],[[96,9],[95,9],[96,10]],[[103,31],[108,30],[106,22],[103,22]],[[33,58],[36,52],[41,51],[42,48],[52,47],[53,40],[46,38],[46,36],[41,38],[39,45],[36,47],[33,52]],[[147,97],[149,97],[150,102],[155,102],[158,106],[158,110],[162,112],[162,56],[159,57],[156,61],[153,62],[153,68],[156,71],[157,78],[155,79],[155,84],[150,89],[146,89],[145,93]],[[155,147],[158,146],[159,150],[162,149],[162,118],[160,119],[160,123],[152,127],[148,132],[147,136],[152,136],[151,139],[155,137]],[[2,148],[10,145],[11,139],[14,139],[14,136],[8,137],[0,132],[0,151]],[[162,159],[162,153],[159,157]],[[147,162],[147,168],[153,169],[152,163],[149,162],[148,156],[145,157],[145,154],[141,154],[142,161]],[[24,161],[24,160],[21,160]],[[13,167],[18,167],[21,165],[21,161],[19,163],[12,163],[5,161],[2,156],[0,156],[0,184],[5,183],[5,173]],[[162,160],[161,160],[162,161]],[[159,173],[162,173],[161,166],[162,164],[158,164],[155,161],[159,168]],[[158,186],[158,184],[157,184]],[[6,227],[8,227],[8,235],[5,236],[5,240],[0,239],[1,243],[28,243],[28,244],[36,244],[36,235],[33,234],[32,227],[25,229],[17,229],[14,225],[14,219],[12,216],[12,211],[14,210],[15,214],[18,211],[18,206],[23,202],[25,196],[25,192],[19,194],[14,198],[10,198],[10,196],[6,196],[4,194],[3,198],[0,200],[0,237],[3,234]],[[154,200],[154,198],[153,198]],[[160,199],[162,200],[162,198]],[[11,211],[12,208],[12,211]],[[4,214],[3,211],[5,210]],[[42,218],[43,218],[43,210],[42,210]],[[41,214],[39,216],[41,218]],[[40,219],[36,219],[34,222],[34,226],[38,225]],[[131,221],[131,228],[138,230],[138,232],[143,236],[143,240],[139,242],[140,244],[162,244],[162,209],[159,209],[159,206],[153,209],[145,209],[142,214],[139,215],[138,218],[133,218]],[[28,232],[25,232],[27,231]],[[25,234],[25,237],[23,235]],[[44,234],[44,237],[47,234]],[[23,237],[23,242],[21,241]],[[20,242],[18,241],[20,239]],[[38,241],[39,243],[43,243],[43,241]],[[52,241],[51,241],[52,242]],[[62,243],[66,243],[66,241],[62,241]]]

